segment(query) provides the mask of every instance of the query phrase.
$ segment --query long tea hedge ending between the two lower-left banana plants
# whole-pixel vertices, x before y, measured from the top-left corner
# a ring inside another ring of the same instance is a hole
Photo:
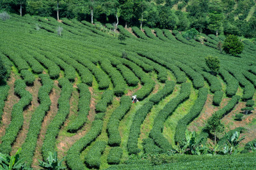
[[[36,108],[31,117],[28,134],[20,152],[20,157],[25,159],[28,166],[31,166],[33,162],[38,134],[40,133],[45,114],[51,106],[49,93],[52,90],[53,81],[47,74],[40,74],[39,76],[42,81],[42,87],[38,90],[40,105]]]

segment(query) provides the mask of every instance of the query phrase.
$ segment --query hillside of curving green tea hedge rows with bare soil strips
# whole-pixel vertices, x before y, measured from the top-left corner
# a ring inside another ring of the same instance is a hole
[[[212,143],[204,126],[215,112],[225,132],[243,127],[242,143],[255,139],[255,43],[244,41],[233,57],[216,48],[223,36],[204,35],[202,45],[179,31],[119,25],[126,36],[120,43],[116,33],[85,21],[29,15],[1,20],[0,32],[10,73],[0,86],[0,152],[21,147],[33,168],[54,150],[70,169],[108,168],[131,154],[172,150],[186,129]],[[209,73],[208,55],[220,59],[218,76]],[[254,110],[237,122],[245,106]]]

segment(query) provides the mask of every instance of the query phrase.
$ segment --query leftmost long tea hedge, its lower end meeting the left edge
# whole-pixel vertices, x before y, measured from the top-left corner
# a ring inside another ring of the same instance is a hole
[[[15,94],[20,97],[18,103],[14,104],[12,108],[12,121],[6,128],[6,132],[2,137],[2,143],[0,145],[0,152],[9,154],[12,151],[12,144],[17,138],[17,135],[23,125],[24,117],[23,110],[32,101],[32,95],[25,90],[26,83],[23,80],[15,81]]]

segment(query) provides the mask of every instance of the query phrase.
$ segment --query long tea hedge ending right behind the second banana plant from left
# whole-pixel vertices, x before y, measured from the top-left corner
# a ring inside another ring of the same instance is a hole
[[[58,99],[58,113],[47,127],[44,144],[42,146],[44,160],[47,159],[49,152],[54,152],[56,136],[58,136],[60,127],[66,120],[70,111],[69,99],[73,91],[73,85],[67,78],[61,78],[59,80],[59,85],[61,86],[61,94]]]

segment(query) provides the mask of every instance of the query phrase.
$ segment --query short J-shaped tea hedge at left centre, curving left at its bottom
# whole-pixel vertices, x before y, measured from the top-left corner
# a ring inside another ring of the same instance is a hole
[[[84,83],[80,83],[77,87],[79,90],[78,115],[76,120],[68,125],[67,131],[69,132],[76,132],[80,129],[87,122],[87,116],[90,111],[91,93],[88,86]]]

